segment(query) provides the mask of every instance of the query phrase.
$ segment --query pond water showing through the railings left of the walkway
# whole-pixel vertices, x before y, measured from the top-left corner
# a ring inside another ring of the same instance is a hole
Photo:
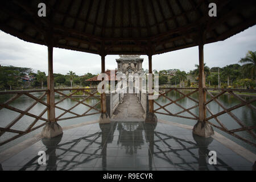
[[[63,93],[64,94],[68,94],[69,91],[65,91]],[[33,96],[36,96],[36,97],[39,98],[40,96],[42,96],[43,92],[42,93],[31,93],[31,94]],[[13,95],[3,95],[3,96],[0,96],[0,103],[6,102],[11,97],[13,97]],[[59,94],[55,94],[55,103],[60,101],[60,100],[62,100],[63,98],[64,97],[60,97]],[[77,101],[82,101],[84,99],[84,97],[73,97],[73,99],[77,100]],[[42,101],[47,102],[47,97],[45,96],[42,99]],[[99,100],[97,100],[97,98],[91,98],[90,97],[87,100],[85,100],[84,103],[88,104],[90,106],[93,106],[98,101]],[[34,102],[35,102],[35,100],[33,100],[32,98],[30,98],[30,97],[28,97],[26,95],[22,95],[18,99],[16,99],[15,101],[11,102],[11,104],[9,104],[9,105],[13,106],[13,107],[15,107],[17,109],[20,109],[20,110],[25,110],[25,109],[27,109],[27,107],[29,107]],[[78,102],[73,101],[73,100],[67,98],[66,100],[60,102],[56,106],[59,106],[59,107],[61,107],[63,109],[68,110],[72,106],[75,106],[77,103]],[[38,103],[34,107],[32,107],[32,109],[30,111],[28,111],[28,113],[39,115],[40,113],[42,113],[42,111],[45,108],[46,108],[46,106],[44,106],[43,104]],[[98,110],[100,110],[100,108],[101,108],[100,104],[98,104],[96,106],[96,108]],[[82,105],[82,104],[79,104],[78,106],[76,106],[71,111],[74,112],[74,113],[77,113],[77,114],[82,114],[82,113],[85,113],[85,111],[87,111],[88,109],[90,109],[90,107]],[[97,110],[93,110],[92,109],[87,114],[97,113],[97,112],[98,112]],[[56,117],[58,117],[62,113],[64,113],[63,110],[55,109]],[[5,108],[1,109],[0,110],[0,127],[6,127],[7,125],[9,125],[9,123],[11,121],[13,121],[13,119],[15,119],[18,116],[19,116],[19,113],[15,112],[15,111],[11,111],[11,110],[5,109]],[[75,116],[75,115],[67,113],[67,114],[64,114],[60,118],[73,117],[73,116]],[[75,125],[75,124],[78,124],[78,123],[83,123],[83,122],[86,122],[86,121],[94,121],[94,120],[98,119],[99,117],[100,117],[100,114],[93,114],[93,115],[88,115],[86,117],[80,117],[80,118],[75,118],[75,119],[67,119],[67,120],[59,121],[58,123],[59,123],[59,125],[61,127],[64,127],[64,126]],[[47,118],[47,112],[42,115],[42,118]],[[11,127],[11,129],[25,131],[27,129],[27,127],[30,126],[30,124],[34,120],[35,120],[35,118],[32,118],[32,117],[27,116],[27,115],[24,115],[21,119],[19,119],[19,121],[17,123],[15,123],[14,126]],[[42,123],[44,123],[44,121],[39,120],[34,127],[36,127],[38,125],[41,125]],[[0,147],[0,152],[3,151],[3,150],[6,150],[6,148],[9,148],[11,146],[14,146],[15,144],[18,144],[18,143],[22,142],[23,140],[26,140],[27,138],[30,138],[30,137],[40,133],[41,131],[42,131],[42,127],[40,127],[37,130],[32,131],[31,133],[28,133],[28,134],[24,135],[24,136],[22,136],[22,137],[20,137],[18,139],[15,139],[12,142],[4,144],[3,146]],[[0,142],[2,142],[3,140],[6,140],[7,138],[10,138],[10,137],[12,137],[14,135],[16,135],[16,134],[6,132],[5,134],[3,134],[1,136]]]

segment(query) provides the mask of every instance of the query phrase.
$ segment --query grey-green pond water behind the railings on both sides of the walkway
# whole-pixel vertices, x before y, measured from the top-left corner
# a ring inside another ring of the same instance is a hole
[[[192,91],[189,90],[183,90],[183,93],[189,93]],[[64,92],[64,94],[69,93],[69,91]],[[43,93],[32,93],[34,96],[36,97],[40,97],[42,96]],[[181,94],[177,93],[177,92],[169,92],[168,97],[171,98],[171,100],[177,100],[178,98],[182,97]],[[3,103],[5,101],[7,101],[9,98],[11,98],[12,95],[4,95],[4,96],[0,96],[0,103]],[[64,97],[60,97],[59,94],[55,95],[55,102],[58,102],[59,100],[63,99]],[[195,100],[197,100],[198,98],[198,93],[194,93],[191,95],[191,98],[194,98]],[[243,97],[246,99],[250,99],[250,97]],[[84,99],[84,97],[74,97],[73,99],[78,100],[78,101],[82,101]],[[209,97],[207,97],[207,100],[209,99]],[[46,102],[47,98],[46,96],[43,98],[43,101]],[[234,105],[240,104],[241,102],[238,101],[236,98],[234,98],[233,96],[230,95],[222,95],[218,98],[218,100],[220,100],[220,102],[226,107],[232,107]],[[13,101],[10,106],[16,107],[17,109],[20,110],[25,110],[27,109],[28,106],[30,106],[35,100],[33,100],[30,97],[27,97],[25,95],[19,97],[17,100]],[[85,101],[86,104],[93,106],[95,105],[99,100],[97,100],[96,98],[89,98]],[[170,103],[170,100],[168,100],[167,98],[164,97],[159,97],[158,100],[156,100],[156,102],[158,102],[160,105],[166,105],[168,103]],[[57,104],[57,106],[62,107],[64,109],[70,109],[72,106],[75,106],[78,102],[73,101],[71,99],[66,99],[63,102],[60,102],[59,104]],[[189,98],[183,98],[182,100],[177,102],[178,104],[180,104],[181,106],[185,107],[185,108],[189,108],[192,106],[196,105],[196,102],[190,100]],[[256,102],[253,103],[253,105],[256,106]],[[97,109],[100,110],[100,104],[98,104]],[[155,104],[154,108],[157,109],[159,106]],[[213,112],[213,114],[216,114],[220,111],[222,111],[222,108],[214,101],[210,102],[210,104],[208,104],[209,109]],[[42,111],[46,108],[46,106],[44,106],[43,104],[36,104],[30,111],[29,113],[35,114],[35,115],[39,115],[40,113],[42,113]],[[87,111],[89,109],[88,106],[79,104],[78,106],[76,106],[74,109],[72,109],[71,111],[73,111],[74,113],[77,114],[82,114],[85,113],[85,111]],[[177,113],[183,109],[181,109],[179,106],[175,105],[175,104],[171,104],[169,106],[166,107],[166,109],[168,109],[169,111],[171,111],[171,113]],[[163,109],[158,110],[162,113],[166,113],[166,111],[164,111]],[[193,114],[198,115],[199,113],[199,108],[196,107],[195,109],[190,110]],[[59,110],[56,109],[56,117],[58,117],[61,113],[63,113],[63,110]],[[89,113],[96,113],[96,110],[90,110],[88,112]],[[243,106],[240,107],[239,109],[233,110],[232,111],[233,114],[236,115],[237,118],[241,119],[241,121],[246,125],[246,126],[254,126],[256,124],[256,113],[255,111],[251,110],[249,107],[247,106]],[[13,121],[13,119],[15,119],[16,117],[18,117],[19,113],[16,113],[14,111],[8,110],[8,109],[1,109],[0,110],[0,127],[6,127],[11,121]],[[185,125],[195,125],[196,120],[192,120],[192,119],[185,119],[185,118],[177,118],[177,117],[171,117],[169,115],[163,115],[163,114],[156,114],[158,118],[160,119],[164,119],[167,121],[172,121],[172,122],[177,122],[177,123],[182,123]],[[192,117],[191,114],[188,113],[182,113],[180,115],[183,116],[187,116],[187,117]],[[71,113],[67,113],[65,115],[63,115],[60,118],[66,118],[66,117],[73,117],[75,115],[71,114]],[[210,113],[207,112],[207,117],[210,116]],[[44,113],[42,115],[43,118],[47,118],[47,113]],[[86,121],[94,121],[96,119],[98,119],[100,117],[100,114],[94,114],[94,115],[88,115],[86,117],[81,117],[81,118],[75,118],[75,119],[67,119],[64,121],[59,121],[59,125],[64,127],[64,126],[70,126],[70,125],[75,125],[77,123],[83,123]],[[224,123],[224,125],[229,129],[237,129],[240,127],[240,125],[238,125],[238,123],[236,121],[234,121],[234,119],[232,119],[228,114],[223,114],[220,115],[218,117],[220,119],[220,121],[222,123]],[[35,118],[29,117],[27,115],[24,115],[13,127],[11,127],[11,129],[14,130],[26,130],[28,126],[30,126],[30,124],[35,120]],[[215,121],[215,119],[211,119],[210,120],[212,123],[218,125],[218,123]],[[35,126],[38,126],[40,124],[44,123],[44,121],[38,121],[36,123]],[[34,127],[35,127],[34,126]],[[225,137],[228,137],[229,139],[232,139],[234,142],[241,144],[241,146],[249,149],[250,151],[254,152],[256,154],[256,149],[253,146],[250,146],[249,144],[246,144],[245,142],[242,142],[241,140],[232,137],[229,134],[224,133],[223,131],[220,131],[216,128],[214,128],[215,131],[217,131],[218,133],[221,133],[222,135],[225,135]],[[4,144],[3,146],[0,147],[0,152],[3,150],[6,150],[6,148],[9,148],[11,146],[14,146],[15,144],[18,144],[20,142],[22,142],[23,140],[26,140],[32,136],[34,136],[35,134],[40,133],[40,131],[42,131],[42,127],[32,131],[29,134],[26,134],[18,139],[15,139],[12,142],[9,142],[7,144]],[[254,130],[255,132],[255,130]],[[249,140],[253,140],[254,138],[249,135],[246,131],[241,131],[239,133],[237,133],[239,135],[241,135],[241,137],[244,137],[246,139]],[[15,134],[13,133],[5,133],[2,135],[0,141],[5,140],[6,138],[9,138],[11,136],[14,136]]]

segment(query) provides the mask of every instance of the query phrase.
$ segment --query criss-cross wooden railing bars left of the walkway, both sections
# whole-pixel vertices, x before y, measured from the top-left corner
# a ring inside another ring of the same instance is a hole
[[[70,91],[71,93],[64,94],[63,92],[65,92],[65,91]],[[80,91],[82,91],[84,93],[84,96],[82,96],[81,101],[78,101],[75,98],[73,98],[72,96],[75,96],[75,94],[77,94],[77,92],[80,92]],[[40,97],[36,97],[33,95],[33,93],[41,93],[41,92],[43,94]],[[99,109],[97,109],[97,107],[96,107],[97,105],[100,104],[100,100],[101,100],[100,96],[98,96],[98,97],[96,96],[96,93],[98,93],[97,88],[55,89],[55,93],[60,94],[60,96],[64,96],[64,98],[61,98],[59,101],[55,102],[55,108],[64,111],[63,113],[61,113],[55,117],[56,121],[63,121],[65,119],[79,118],[79,117],[85,117],[88,115],[101,113],[101,111]],[[6,123],[8,123],[6,126],[1,125],[2,127],[0,127],[0,139],[1,139],[0,146],[2,146],[3,144],[9,143],[19,137],[22,137],[23,135],[31,133],[32,131],[39,129],[40,127],[43,127],[44,125],[46,125],[47,122],[49,122],[48,118],[43,117],[43,115],[49,111],[49,104],[47,103],[47,99],[46,99],[47,95],[49,95],[48,89],[0,92],[0,96],[10,97],[9,100],[7,100],[3,103],[0,102],[0,110],[5,108],[5,109],[14,111],[15,113],[19,114],[17,117],[12,119],[12,121],[6,122]],[[31,98],[32,100],[34,100],[34,102],[32,102],[31,105],[29,105],[27,108],[24,108],[24,109],[18,109],[16,107],[12,106],[13,102],[18,100],[18,98],[20,98],[20,96],[27,96],[27,97]],[[98,102],[96,104],[94,104],[93,106],[86,104],[85,101],[90,98],[96,98],[96,100],[98,100]],[[64,109],[59,104],[67,99],[75,101],[75,102],[77,102],[77,104],[75,106],[72,106],[69,109]],[[46,100],[46,101],[44,101],[44,100]],[[39,103],[44,105],[45,108],[42,109],[42,111],[39,114],[31,113],[32,108],[34,108]],[[75,109],[75,107],[77,107],[79,105],[84,105],[84,106],[88,107],[88,110],[85,110],[84,113],[82,113],[82,114],[78,114],[75,111],[73,111],[73,109]],[[92,112],[92,111],[94,111],[94,112]],[[73,114],[75,116],[65,117],[65,114],[67,114],[67,113]],[[13,129],[13,126],[15,126],[15,124],[18,123],[20,121],[20,119],[22,119],[24,116],[34,118],[34,121],[32,121],[30,123],[30,125],[25,126],[26,127],[25,130]],[[44,123],[40,123],[39,125],[36,125],[36,123],[38,123],[39,121],[43,121]],[[3,134],[5,134],[6,132],[11,133],[12,136],[11,137],[9,137],[9,136],[3,137]]]

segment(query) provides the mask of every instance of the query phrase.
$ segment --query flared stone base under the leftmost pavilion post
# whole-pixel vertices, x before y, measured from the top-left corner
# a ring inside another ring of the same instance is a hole
[[[42,130],[42,137],[53,138],[60,134],[63,134],[61,126],[57,122],[48,122]]]

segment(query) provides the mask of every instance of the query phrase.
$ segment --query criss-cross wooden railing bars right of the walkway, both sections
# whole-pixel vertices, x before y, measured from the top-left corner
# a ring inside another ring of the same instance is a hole
[[[159,97],[166,98],[168,101],[170,101],[170,103],[162,106],[158,103],[158,101],[154,101],[154,103],[159,106],[157,109],[154,109],[154,113],[170,115],[172,117],[180,117],[180,118],[186,118],[186,119],[199,120],[199,117],[195,113],[192,113],[190,111],[192,109],[195,109],[196,107],[199,107],[199,101],[190,97],[191,94],[198,92],[198,90],[199,90],[198,88],[160,88],[159,90],[160,90]],[[178,98],[177,100],[172,100],[170,97],[168,97],[167,94],[169,92],[171,92],[172,90],[174,90],[177,93],[180,93],[181,97]],[[190,92],[187,93],[187,94],[184,94],[180,90],[189,90]],[[212,92],[217,92],[217,93],[212,93]],[[243,106],[247,106],[247,107],[249,107],[249,109],[256,112],[256,107],[254,105],[252,105],[253,103],[254,104],[256,103],[256,96],[253,96],[253,98],[250,98],[249,100],[246,100],[245,98],[242,98],[239,94],[236,94],[236,92],[256,93],[256,90],[204,88],[204,93],[206,93],[207,96],[209,97],[209,99],[205,100],[205,102],[204,102],[204,109],[210,115],[208,117],[207,117],[207,115],[205,115],[204,122],[206,122],[209,125],[215,127],[216,129],[224,131],[225,133],[227,133],[229,135],[232,135],[233,137],[236,137],[236,138],[242,140],[243,142],[249,143],[252,146],[256,146],[256,143],[255,143],[255,141],[256,141],[256,135],[255,135],[256,126],[255,125],[254,126],[246,126],[245,122],[242,122],[241,119],[239,119],[235,114],[232,113],[233,110],[238,109],[238,108],[243,107]],[[234,105],[232,107],[226,108],[224,106],[224,104],[222,104],[221,101],[218,100],[218,97],[222,96],[223,94],[229,94],[230,96],[233,96],[234,98],[236,98],[241,103],[237,104],[237,105]],[[185,108],[184,106],[182,106],[182,104],[177,103],[178,101],[182,100],[183,98],[188,98],[189,100],[192,100],[193,102],[196,102],[196,105],[192,106],[192,107],[189,107],[189,108]],[[208,107],[210,102],[213,102],[213,101],[216,102],[217,105],[222,108],[222,111],[213,114],[213,112]],[[167,109],[167,106],[170,106],[172,104],[175,104],[176,106],[180,107],[182,110],[177,112],[177,113],[172,113],[171,110]],[[163,109],[164,111],[166,111],[166,113],[160,112],[159,111],[160,109]],[[191,115],[191,117],[180,115],[181,113],[188,113],[188,114]],[[237,129],[229,130],[225,126],[225,122],[221,122],[220,118],[218,118],[223,114],[228,114],[233,119],[233,121],[236,122],[240,127],[237,128]],[[210,121],[213,118],[215,119],[215,121],[220,126],[217,126],[216,123],[213,123],[212,121]],[[240,135],[237,134],[240,131],[246,131],[252,137],[252,139],[247,139],[247,138],[241,137]]]

